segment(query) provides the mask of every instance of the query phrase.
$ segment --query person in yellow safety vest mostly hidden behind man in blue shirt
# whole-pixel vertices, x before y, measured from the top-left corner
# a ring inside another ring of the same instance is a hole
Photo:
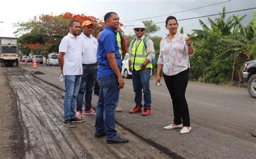
[[[116,32],[117,32],[116,37],[117,37],[117,44],[119,46],[119,53],[121,54],[121,60],[123,61],[124,57],[125,57],[125,54],[127,53],[126,37],[125,37],[124,32],[121,30],[120,27],[118,28],[118,30]],[[99,39],[101,33],[102,32],[100,32],[98,34],[97,39]],[[121,112],[121,111],[122,111],[121,107],[119,105],[117,105],[116,112]]]

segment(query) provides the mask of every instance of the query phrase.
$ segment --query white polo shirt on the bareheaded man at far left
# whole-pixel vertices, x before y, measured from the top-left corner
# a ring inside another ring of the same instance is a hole
[[[68,33],[59,44],[59,52],[64,52],[63,75],[83,75],[83,45],[79,36]]]

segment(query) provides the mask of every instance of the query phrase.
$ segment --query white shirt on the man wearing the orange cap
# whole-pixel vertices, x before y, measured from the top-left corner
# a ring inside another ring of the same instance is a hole
[[[95,37],[90,35],[88,38],[84,33],[79,35],[80,40],[83,43],[83,64],[94,64],[97,62],[97,48],[98,41]]]

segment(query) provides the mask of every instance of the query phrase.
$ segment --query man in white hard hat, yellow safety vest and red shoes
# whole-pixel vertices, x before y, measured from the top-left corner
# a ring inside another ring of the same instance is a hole
[[[143,116],[151,112],[151,91],[150,76],[152,71],[151,61],[156,56],[154,53],[153,41],[144,35],[145,25],[142,21],[134,24],[136,39],[133,39],[129,47],[129,68],[132,72],[133,90],[135,92],[134,101],[136,106],[130,113],[142,112],[142,90],[144,93]]]

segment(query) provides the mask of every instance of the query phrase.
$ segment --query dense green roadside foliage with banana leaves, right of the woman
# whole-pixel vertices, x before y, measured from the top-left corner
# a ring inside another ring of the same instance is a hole
[[[225,8],[219,18],[208,18],[211,27],[202,20],[203,30],[193,30],[191,39],[196,54],[191,61],[191,79],[209,83],[241,81],[242,64],[255,54],[255,29],[253,22],[243,26],[239,18],[226,18]]]

